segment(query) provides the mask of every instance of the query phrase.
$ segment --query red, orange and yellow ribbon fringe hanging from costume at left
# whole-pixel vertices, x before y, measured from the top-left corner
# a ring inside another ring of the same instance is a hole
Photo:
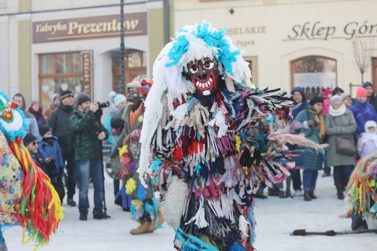
[[[16,216],[24,227],[22,243],[36,240],[35,249],[48,244],[64,215],[59,196],[48,176],[35,164],[21,139],[9,141],[9,146],[19,160],[24,172],[21,212]],[[25,241],[25,230],[29,238]]]

